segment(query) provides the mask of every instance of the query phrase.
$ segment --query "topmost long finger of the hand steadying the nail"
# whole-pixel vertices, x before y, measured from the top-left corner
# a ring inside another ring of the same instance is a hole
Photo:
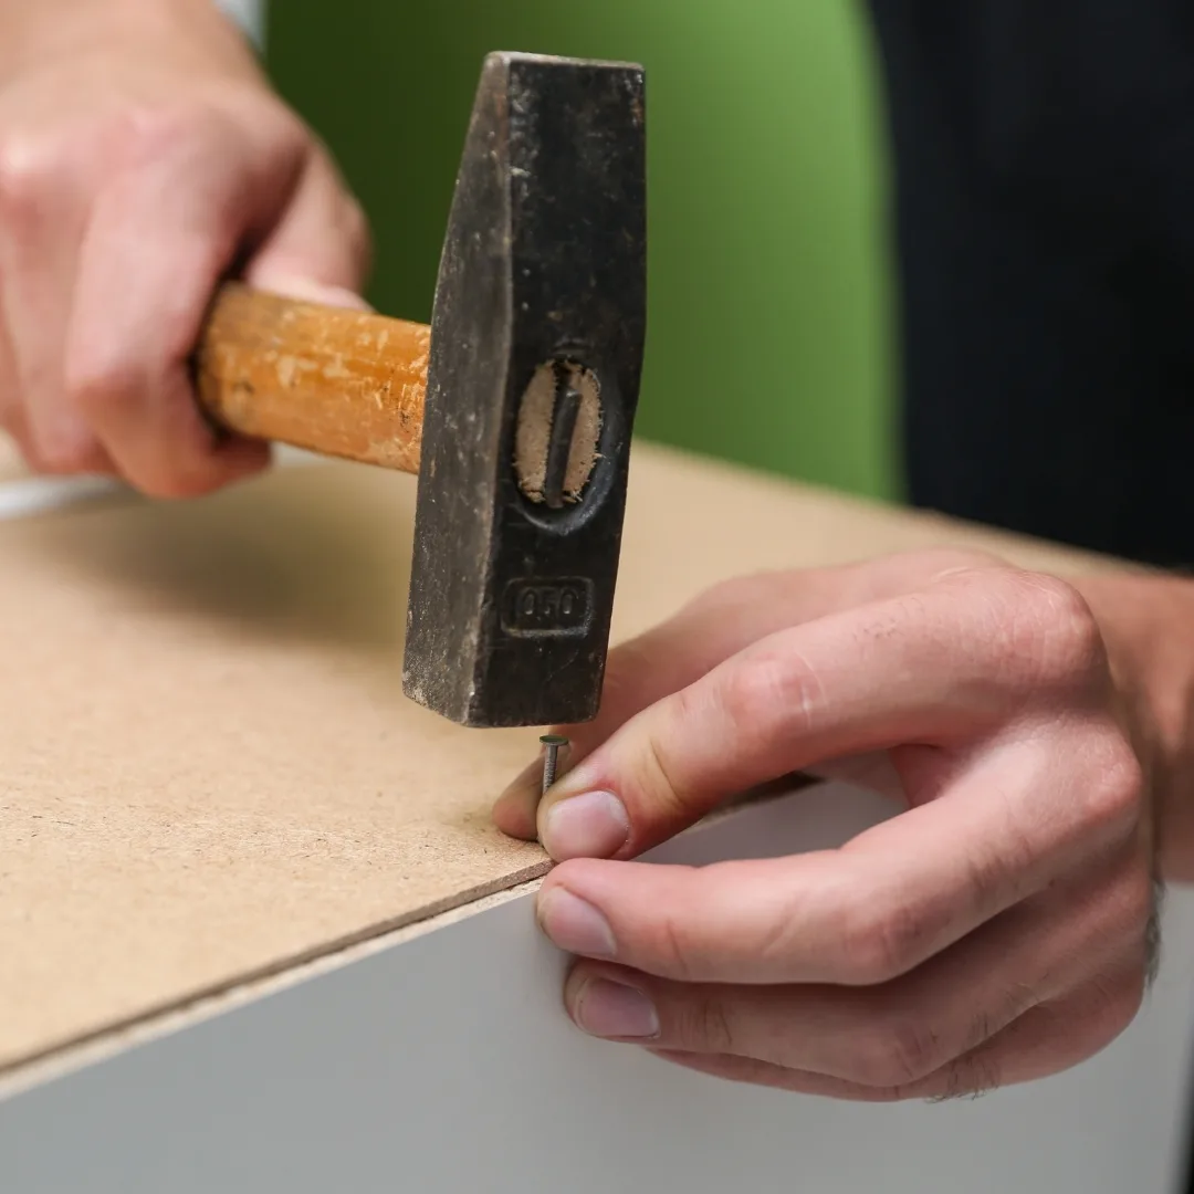
[[[1079,601],[1060,581],[991,568],[763,639],[579,763],[540,805],[540,838],[556,861],[597,853],[571,841],[565,816],[574,798],[610,794],[629,825],[616,856],[634,857],[727,796],[818,763],[959,747],[1028,706],[1097,707],[1109,679]]]

